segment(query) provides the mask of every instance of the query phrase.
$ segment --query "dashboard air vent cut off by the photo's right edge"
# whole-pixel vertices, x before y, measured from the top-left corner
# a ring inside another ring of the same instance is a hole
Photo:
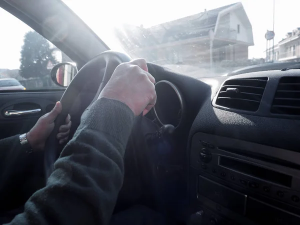
[[[284,76],[280,78],[271,112],[300,115],[300,76]]]

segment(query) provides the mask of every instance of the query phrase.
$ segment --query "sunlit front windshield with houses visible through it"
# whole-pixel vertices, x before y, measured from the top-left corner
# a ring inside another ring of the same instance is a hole
[[[64,0],[113,50],[207,77],[300,58],[295,0]]]

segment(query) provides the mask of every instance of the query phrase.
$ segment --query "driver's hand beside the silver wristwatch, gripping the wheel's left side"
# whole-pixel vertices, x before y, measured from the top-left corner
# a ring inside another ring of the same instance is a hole
[[[35,125],[26,133],[28,143],[33,150],[42,150],[45,146],[46,139],[54,128],[54,120],[61,112],[61,103],[56,102],[54,108],[41,116]],[[71,127],[71,117],[67,115],[65,118],[65,124],[59,127],[59,133],[57,133],[57,139],[62,144],[67,141],[68,134]]]

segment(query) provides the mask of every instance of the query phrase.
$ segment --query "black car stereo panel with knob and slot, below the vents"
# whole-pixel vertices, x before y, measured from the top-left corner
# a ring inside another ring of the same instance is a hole
[[[189,165],[197,201],[261,224],[299,224],[300,153],[196,133]]]

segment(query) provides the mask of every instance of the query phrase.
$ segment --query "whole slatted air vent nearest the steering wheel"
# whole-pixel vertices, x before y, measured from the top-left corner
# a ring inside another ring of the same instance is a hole
[[[236,78],[224,82],[215,104],[227,108],[257,111],[267,77]]]

